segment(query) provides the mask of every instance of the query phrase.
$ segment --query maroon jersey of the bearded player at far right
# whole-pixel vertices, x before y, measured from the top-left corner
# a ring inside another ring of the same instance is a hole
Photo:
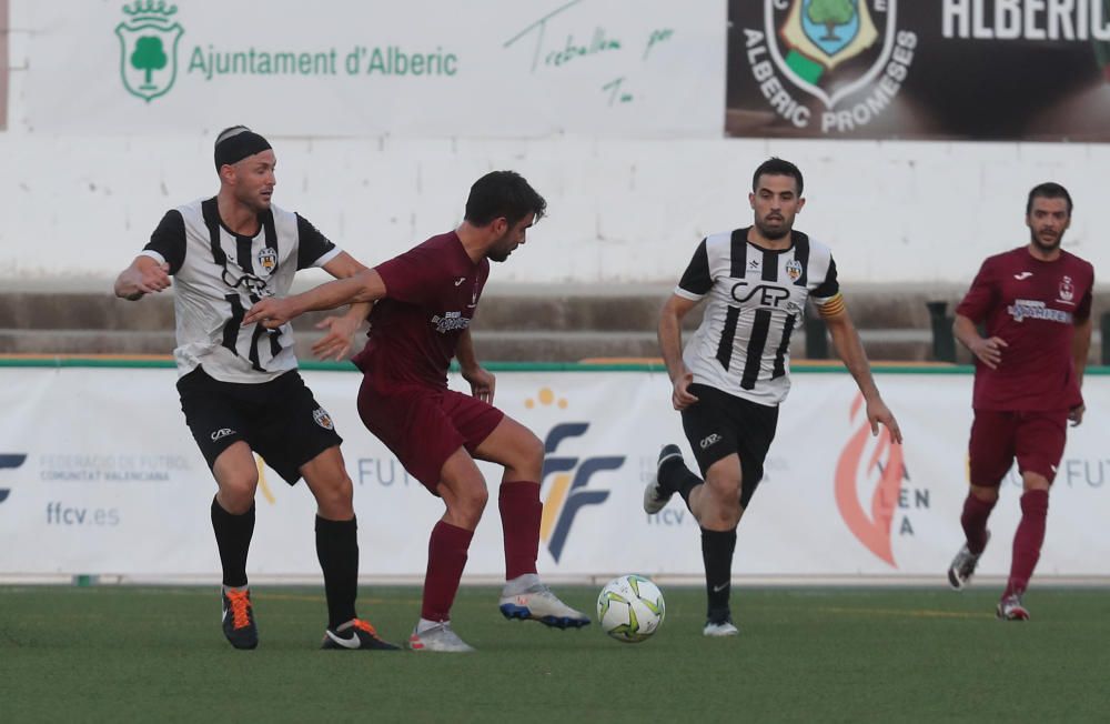
[[[991,370],[976,360],[976,410],[1068,410],[1082,403],[1071,355],[1076,323],[1091,314],[1094,269],[1066,251],[1041,261],[1020,247],[982,263],[958,314],[1009,346]]]

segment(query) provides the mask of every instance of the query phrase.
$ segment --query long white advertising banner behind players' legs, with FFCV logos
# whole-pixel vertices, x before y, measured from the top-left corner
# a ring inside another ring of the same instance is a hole
[[[305,372],[344,438],[367,577],[420,580],[443,504],[361,425],[354,373]],[[0,576],[214,577],[214,482],[160,369],[0,369]],[[971,376],[880,374],[906,444],[872,438],[851,378],[796,374],[766,477],[738,531],[737,576],[890,580],[945,571],[963,541]],[[1084,385],[1088,416],[1069,433],[1052,490],[1039,576],[1110,576],[1110,378]],[[458,379],[453,386],[463,389]],[[532,429],[547,457],[539,570],[568,579],[640,572],[702,575],[698,525],[675,497],[642,507],[659,446],[693,456],[665,374],[513,372],[497,404]],[[418,434],[414,431],[413,434]],[[496,499],[500,470],[482,464]],[[980,573],[1005,575],[1021,485],[1003,483]],[[315,576],[315,506],[262,465],[249,571]],[[504,573],[491,504],[466,573]]]

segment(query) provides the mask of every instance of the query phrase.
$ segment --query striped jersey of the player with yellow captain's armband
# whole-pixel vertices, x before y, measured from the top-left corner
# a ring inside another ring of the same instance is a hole
[[[818,306],[839,293],[836,263],[824,244],[791,232],[788,249],[748,241],[748,229],[707,237],[675,294],[708,296],[702,325],[683,352],[694,382],[759,404],[776,405],[790,390],[790,334],[806,301]]]

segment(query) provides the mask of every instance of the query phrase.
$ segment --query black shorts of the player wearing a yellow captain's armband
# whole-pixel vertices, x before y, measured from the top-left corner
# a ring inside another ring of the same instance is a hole
[[[704,384],[692,384],[697,403],[683,410],[683,429],[702,476],[718,460],[740,456],[740,505],[748,506],[763,480],[763,463],[775,440],[778,406],[757,404]]]

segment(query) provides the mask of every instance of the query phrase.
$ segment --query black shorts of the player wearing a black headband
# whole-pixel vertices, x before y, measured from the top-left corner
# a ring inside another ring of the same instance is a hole
[[[301,465],[343,442],[331,415],[313,399],[295,370],[260,384],[220,382],[202,368],[178,380],[181,411],[204,460],[240,440],[289,483]]]

